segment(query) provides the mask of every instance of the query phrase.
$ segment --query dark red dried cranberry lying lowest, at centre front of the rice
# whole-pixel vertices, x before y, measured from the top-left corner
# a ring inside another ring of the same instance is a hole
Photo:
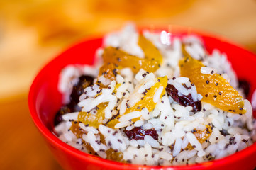
[[[145,135],[153,137],[155,140],[158,139],[158,134],[155,128],[143,129],[142,127],[135,127],[132,130],[123,130],[130,140],[144,140]]]

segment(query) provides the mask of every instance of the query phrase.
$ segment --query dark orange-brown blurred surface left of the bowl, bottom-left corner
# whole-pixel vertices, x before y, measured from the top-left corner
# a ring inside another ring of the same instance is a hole
[[[35,128],[27,95],[0,103],[0,169],[61,169]]]

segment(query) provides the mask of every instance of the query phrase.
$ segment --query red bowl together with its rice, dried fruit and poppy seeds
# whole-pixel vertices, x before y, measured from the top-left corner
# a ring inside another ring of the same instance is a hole
[[[252,53],[204,33],[128,27],[52,60],[31,86],[30,111],[66,169],[224,168],[245,160],[253,168],[252,107],[238,86],[248,81],[252,97],[253,62]]]

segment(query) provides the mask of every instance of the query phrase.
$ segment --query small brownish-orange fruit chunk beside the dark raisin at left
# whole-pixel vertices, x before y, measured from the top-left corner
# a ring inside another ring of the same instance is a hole
[[[115,64],[104,63],[99,69],[99,75],[96,84],[98,84],[101,88],[106,88],[111,83],[111,81],[116,79],[116,74],[120,73]],[[100,81],[102,76],[105,78],[105,82]]]

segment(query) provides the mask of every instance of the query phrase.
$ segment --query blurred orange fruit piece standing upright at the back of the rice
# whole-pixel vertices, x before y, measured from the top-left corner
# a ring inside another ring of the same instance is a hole
[[[149,60],[156,60],[159,63],[162,63],[162,55],[160,51],[153,45],[153,43],[145,38],[143,35],[139,35],[138,45],[143,50],[145,58]]]

